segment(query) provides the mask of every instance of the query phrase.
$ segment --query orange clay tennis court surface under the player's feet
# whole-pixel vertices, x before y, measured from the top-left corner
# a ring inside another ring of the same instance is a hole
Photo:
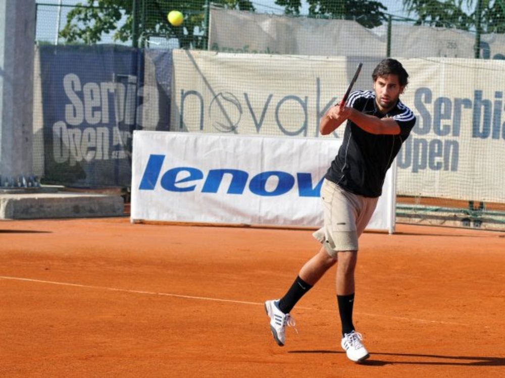
[[[263,302],[319,248],[312,230],[0,222],[2,377],[504,377],[505,233],[397,225],[360,239],[340,349],[335,267],[278,347]]]

